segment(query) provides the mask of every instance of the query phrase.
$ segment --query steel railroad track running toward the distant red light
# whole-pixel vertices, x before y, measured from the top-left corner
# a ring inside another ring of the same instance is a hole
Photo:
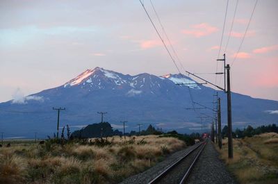
[[[156,176],[148,184],[167,183],[167,184],[182,184],[186,183],[190,172],[197,162],[200,154],[204,150],[206,142],[202,142],[193,150],[186,153],[185,156],[174,162],[170,167],[167,167],[161,174]]]

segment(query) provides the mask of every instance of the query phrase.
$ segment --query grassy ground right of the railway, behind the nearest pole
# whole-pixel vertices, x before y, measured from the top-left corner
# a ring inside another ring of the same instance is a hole
[[[239,183],[278,183],[278,134],[263,133],[253,137],[234,139],[234,159],[229,160],[227,139],[223,140],[220,158],[227,164]]]

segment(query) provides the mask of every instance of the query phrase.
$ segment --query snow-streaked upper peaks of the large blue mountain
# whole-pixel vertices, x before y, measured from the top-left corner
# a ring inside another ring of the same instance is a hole
[[[110,83],[110,90],[115,90],[122,87],[132,87],[140,90],[147,88],[161,88],[161,82],[172,81],[174,84],[186,83],[188,87],[200,89],[195,84],[195,81],[186,76],[167,74],[165,76],[153,76],[150,74],[139,74],[136,76],[123,75],[117,72],[109,71],[96,67],[95,69],[87,69],[85,72],[65,83],[64,87],[90,87],[92,89],[104,89],[106,85],[101,85],[101,82]],[[192,84],[191,84],[192,83]]]

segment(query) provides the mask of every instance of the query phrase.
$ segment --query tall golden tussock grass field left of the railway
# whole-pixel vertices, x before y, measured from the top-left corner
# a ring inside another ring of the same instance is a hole
[[[186,147],[173,137],[108,137],[106,146],[28,144],[0,148],[0,183],[119,183]]]

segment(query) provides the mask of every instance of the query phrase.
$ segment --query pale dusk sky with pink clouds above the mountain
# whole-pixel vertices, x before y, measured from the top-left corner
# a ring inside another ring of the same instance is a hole
[[[233,92],[278,101],[278,1],[258,1],[234,60],[255,2],[238,2],[231,30],[236,0],[229,1],[219,58],[227,45]],[[208,73],[222,72],[216,59],[227,1],[152,0],[165,33],[150,1],[143,3],[181,65],[221,85],[222,77]],[[0,66],[0,102],[63,85],[95,67],[131,75],[178,73],[139,0],[0,0]]]

